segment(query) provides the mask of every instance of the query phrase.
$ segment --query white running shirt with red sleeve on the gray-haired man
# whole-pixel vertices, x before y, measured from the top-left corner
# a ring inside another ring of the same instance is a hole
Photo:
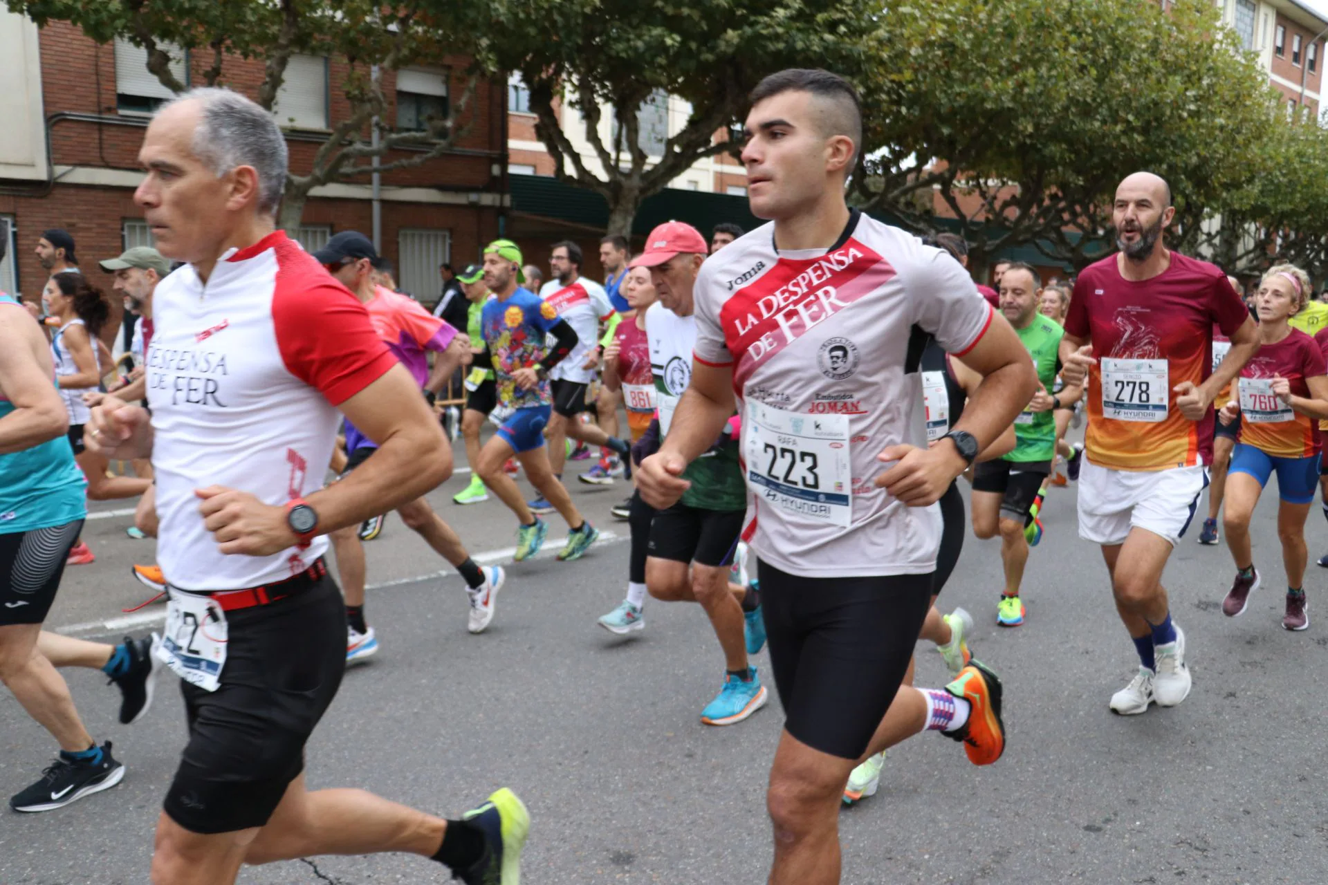
[[[337,406],[397,365],[369,314],[276,231],[231,249],[207,283],[185,265],[157,284],[147,350],[157,561],[182,590],[280,581],[327,551],[325,537],[274,556],[218,549],[194,490],[224,486],[284,506],[323,487]]]

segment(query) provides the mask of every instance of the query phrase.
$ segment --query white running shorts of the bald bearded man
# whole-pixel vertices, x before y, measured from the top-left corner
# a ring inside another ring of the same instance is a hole
[[[1207,484],[1203,466],[1113,470],[1085,458],[1078,482],[1080,537],[1110,547],[1125,543],[1131,528],[1142,528],[1175,547]]]

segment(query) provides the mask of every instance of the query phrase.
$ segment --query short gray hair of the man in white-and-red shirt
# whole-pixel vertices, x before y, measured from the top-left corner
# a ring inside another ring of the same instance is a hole
[[[290,155],[272,114],[238,92],[218,86],[181,93],[157,113],[185,101],[202,106],[194,130],[194,154],[218,178],[238,166],[252,166],[258,172],[258,210],[275,215],[286,188]]]

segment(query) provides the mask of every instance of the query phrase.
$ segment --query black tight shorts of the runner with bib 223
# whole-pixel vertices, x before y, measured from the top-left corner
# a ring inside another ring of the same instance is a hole
[[[798,577],[760,560],[757,576],[785,730],[862,758],[908,671],[932,576]]]

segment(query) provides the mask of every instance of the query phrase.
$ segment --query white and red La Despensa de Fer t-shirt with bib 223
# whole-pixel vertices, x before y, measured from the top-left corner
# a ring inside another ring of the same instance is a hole
[[[744,537],[805,577],[924,575],[940,512],[872,480],[887,446],[927,444],[920,360],[968,352],[992,309],[948,253],[851,211],[830,249],[777,251],[774,226],[701,265],[696,360],[733,366],[752,504]]]

